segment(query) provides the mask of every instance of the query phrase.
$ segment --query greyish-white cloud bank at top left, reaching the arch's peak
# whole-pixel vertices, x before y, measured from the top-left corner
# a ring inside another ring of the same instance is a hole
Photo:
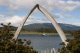
[[[16,10],[20,8],[30,8],[35,4],[34,0],[0,0],[0,5]]]

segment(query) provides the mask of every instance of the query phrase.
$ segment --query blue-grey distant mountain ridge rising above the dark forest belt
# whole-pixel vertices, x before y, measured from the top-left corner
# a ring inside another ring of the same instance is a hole
[[[70,24],[63,24],[59,23],[61,28],[63,30],[80,30],[80,26],[70,25]],[[23,29],[30,29],[30,30],[36,30],[36,29],[55,29],[54,26],[51,23],[34,23],[23,26]]]

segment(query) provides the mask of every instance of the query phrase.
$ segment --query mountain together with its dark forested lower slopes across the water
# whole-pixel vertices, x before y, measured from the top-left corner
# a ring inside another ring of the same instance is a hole
[[[75,31],[80,30],[80,26],[70,25],[70,24],[63,24],[59,23],[61,28],[64,31]],[[12,27],[12,26],[11,26]],[[0,27],[2,28],[2,27]],[[16,30],[17,27],[12,27],[11,30]],[[32,31],[32,32],[56,32],[54,26],[51,23],[34,23],[25,25],[22,28],[22,31]]]

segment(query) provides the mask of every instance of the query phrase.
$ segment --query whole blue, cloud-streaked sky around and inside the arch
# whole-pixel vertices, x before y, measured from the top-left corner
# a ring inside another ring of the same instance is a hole
[[[19,26],[36,4],[47,9],[58,23],[80,26],[80,0],[0,0],[0,23]],[[36,9],[25,25],[48,22]]]

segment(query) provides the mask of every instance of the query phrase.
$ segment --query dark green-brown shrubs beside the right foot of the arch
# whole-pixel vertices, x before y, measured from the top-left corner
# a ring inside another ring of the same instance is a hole
[[[67,40],[69,43],[66,47],[59,49],[60,53],[80,53],[80,30],[74,31],[74,38],[71,40]]]

